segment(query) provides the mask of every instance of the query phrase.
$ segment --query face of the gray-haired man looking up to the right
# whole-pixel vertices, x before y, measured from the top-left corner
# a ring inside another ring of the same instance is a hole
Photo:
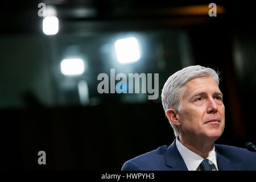
[[[184,89],[181,136],[218,139],[225,126],[225,106],[216,81],[212,77],[195,78],[187,82]]]

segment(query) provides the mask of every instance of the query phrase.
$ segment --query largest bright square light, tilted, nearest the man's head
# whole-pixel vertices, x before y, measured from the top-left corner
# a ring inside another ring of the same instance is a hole
[[[132,63],[141,58],[139,44],[136,38],[119,39],[115,42],[115,53],[119,63]]]

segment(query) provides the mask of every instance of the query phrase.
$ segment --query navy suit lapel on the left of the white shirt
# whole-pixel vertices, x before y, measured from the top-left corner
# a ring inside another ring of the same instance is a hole
[[[176,139],[172,142],[171,146],[166,151],[166,166],[174,171],[188,171],[188,168],[177,150]]]

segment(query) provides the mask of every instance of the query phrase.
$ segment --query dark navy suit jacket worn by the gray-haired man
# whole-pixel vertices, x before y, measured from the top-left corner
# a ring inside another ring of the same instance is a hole
[[[256,171],[256,152],[245,148],[214,144],[217,166],[220,171]],[[187,171],[188,168],[177,150],[176,141],[171,146],[161,146],[128,160],[122,171]]]

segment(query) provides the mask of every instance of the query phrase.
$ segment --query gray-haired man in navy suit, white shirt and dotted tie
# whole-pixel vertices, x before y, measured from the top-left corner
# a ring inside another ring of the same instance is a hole
[[[214,144],[225,126],[223,95],[213,69],[190,66],[170,76],[162,104],[176,139],[128,160],[122,170],[256,170],[256,153]]]

